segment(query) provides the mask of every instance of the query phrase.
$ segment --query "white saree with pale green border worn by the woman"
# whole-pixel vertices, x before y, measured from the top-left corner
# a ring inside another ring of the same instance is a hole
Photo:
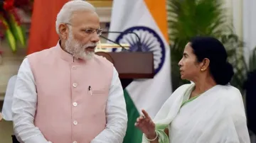
[[[159,143],[250,143],[245,108],[237,88],[217,85],[182,105],[193,87],[194,84],[179,87],[156,114]],[[165,128],[169,129],[169,137]],[[149,142],[144,135],[142,142]]]

